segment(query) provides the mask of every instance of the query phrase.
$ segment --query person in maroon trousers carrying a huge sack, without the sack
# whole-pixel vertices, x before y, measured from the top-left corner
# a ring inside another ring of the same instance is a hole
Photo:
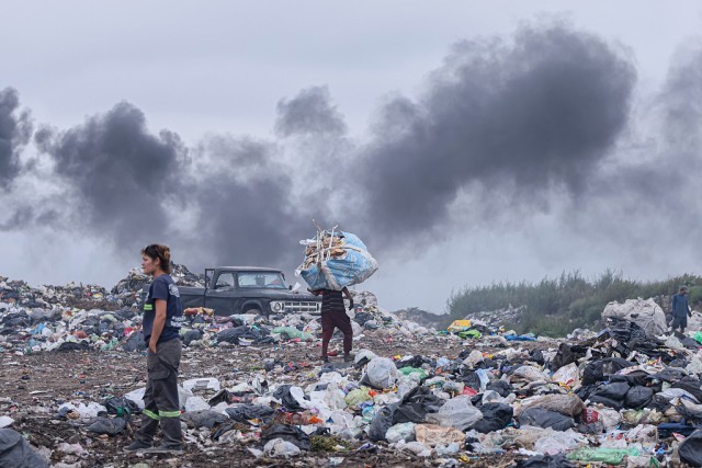
[[[346,306],[343,305],[343,295],[349,299],[349,310],[353,309],[353,298],[351,293],[346,287],[341,290],[332,289],[308,289],[315,296],[321,294],[321,361],[329,362],[329,355],[327,351],[329,349],[329,340],[333,335],[335,328],[338,328],[343,333],[343,362],[350,363],[353,361],[351,350],[353,347],[353,328],[351,327],[351,319],[347,315]]]

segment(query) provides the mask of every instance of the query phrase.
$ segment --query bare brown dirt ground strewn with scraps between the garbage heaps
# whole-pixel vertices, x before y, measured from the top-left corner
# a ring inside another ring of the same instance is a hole
[[[365,333],[356,341],[362,347],[370,349],[381,356],[401,355],[444,355],[457,356],[466,347],[463,340],[446,336],[426,336],[421,340],[388,340],[382,331]],[[477,344],[477,343],[473,343]],[[525,343],[539,346],[542,343]],[[335,336],[330,347],[339,347],[340,340]],[[473,346],[471,346],[473,347]],[[490,349],[485,349],[489,352]],[[272,384],[313,381],[320,369],[317,358],[319,341],[315,343],[292,343],[278,346],[231,346],[212,349],[185,349],[180,368],[180,380],[195,377],[217,377],[225,384],[247,381],[251,375],[262,373],[261,363],[265,358],[275,358],[288,369],[271,370],[267,379]],[[340,356],[331,358],[340,369],[354,373],[361,378],[361,370],[348,366]],[[110,395],[123,395],[144,387],[146,378],[146,357],[143,353],[123,351],[70,351],[35,353],[27,355],[4,354],[0,367],[0,408],[2,414],[11,415],[15,421],[12,429],[24,434],[35,447],[45,447],[56,466],[114,466],[127,467],[145,463],[151,467],[201,467],[215,466],[341,466],[341,467],[426,467],[439,466],[441,458],[420,458],[392,449],[382,449],[376,454],[349,452],[324,453],[309,452],[302,456],[282,459],[256,458],[245,443],[206,444],[203,434],[199,441],[188,441],[185,453],[178,457],[168,455],[126,454],[123,447],[128,445],[138,429],[139,418],[132,421],[131,430],[116,436],[97,436],[86,431],[84,425],[71,420],[61,420],[56,408],[64,401],[101,401]],[[57,450],[60,443],[80,444],[86,453],[80,457]],[[355,445],[361,446],[363,442]],[[332,459],[330,461],[330,458]],[[522,457],[523,458],[523,457]],[[472,458],[472,467],[501,467],[513,463],[514,455],[486,455]],[[76,465],[72,465],[75,463]],[[65,465],[61,465],[65,464]]]

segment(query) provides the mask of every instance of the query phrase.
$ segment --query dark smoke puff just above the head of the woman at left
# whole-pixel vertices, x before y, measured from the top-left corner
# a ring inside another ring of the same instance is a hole
[[[166,204],[182,194],[186,156],[177,134],[150,134],[144,113],[120,103],[66,132],[44,128],[35,140],[69,187],[68,216],[81,230],[132,252],[167,236]]]

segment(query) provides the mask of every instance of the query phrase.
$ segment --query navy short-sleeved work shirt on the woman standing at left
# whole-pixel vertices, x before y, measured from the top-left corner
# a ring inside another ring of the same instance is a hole
[[[158,276],[149,286],[149,295],[144,301],[144,341],[147,343],[154,330],[156,319],[156,299],[166,300],[166,324],[158,339],[159,343],[179,338],[183,322],[183,309],[180,306],[180,292],[170,275]]]

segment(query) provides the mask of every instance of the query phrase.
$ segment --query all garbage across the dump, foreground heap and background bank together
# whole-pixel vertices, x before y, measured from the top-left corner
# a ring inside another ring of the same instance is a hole
[[[612,304],[603,311],[605,329],[554,340],[479,320],[437,332],[397,319],[371,293],[354,294],[354,303],[353,363],[291,359],[318,353],[318,317],[192,318],[182,331],[184,356],[201,363],[200,374],[183,376],[179,388],[189,453],[237,447],[261,464],[322,453],[333,465],[374,453],[442,467],[489,457],[529,467],[702,465],[699,315],[690,321],[695,331],[682,335],[657,327],[661,310],[649,301]],[[143,350],[138,323],[129,309],[3,301],[0,346],[15,354],[100,349],[116,356]],[[400,351],[406,343],[412,352]],[[247,353],[256,365],[242,368]],[[145,386],[137,384],[101,398],[67,396],[39,413],[81,434],[126,440],[143,410]],[[19,423],[7,404],[0,426],[11,427]],[[0,444],[34,454],[5,431]],[[84,446],[66,444],[60,457],[59,448],[48,456],[64,463],[84,456]]]

